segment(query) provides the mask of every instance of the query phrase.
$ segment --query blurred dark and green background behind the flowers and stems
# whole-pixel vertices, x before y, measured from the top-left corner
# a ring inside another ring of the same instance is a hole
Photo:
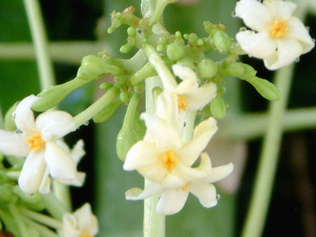
[[[241,26],[240,20],[232,17],[235,3],[235,0],[200,0],[194,5],[170,4],[164,12],[165,27],[172,33],[195,32],[204,36],[204,20],[223,22],[229,34],[234,37]],[[140,0],[41,0],[40,4],[50,41],[98,40],[104,42],[104,47],[112,56],[131,56],[122,55],[118,50],[125,43],[126,27],[119,28],[112,35],[106,33],[106,27],[110,25],[109,14],[113,10],[122,11],[125,7],[134,5],[135,14],[140,16]],[[315,22],[315,17],[307,18],[313,38],[316,38]],[[1,42],[31,42],[22,0],[0,0]],[[69,54],[76,53],[69,51]],[[90,52],[95,53],[97,51]],[[297,64],[290,108],[316,105],[315,57],[316,53],[312,52],[301,57]],[[246,57],[244,60],[258,70],[259,77],[272,78],[272,73],[264,69],[261,60]],[[57,82],[73,79],[78,67],[79,65],[54,61]],[[230,103],[228,113],[235,109],[241,112],[266,110],[267,102],[250,85],[231,80],[233,82],[228,87],[240,86],[242,96],[239,97],[238,90],[232,88],[234,94],[227,98]],[[63,101],[60,108],[76,115],[91,103],[95,88],[96,85],[90,83],[75,91]],[[39,92],[37,65],[34,60],[7,60],[0,57],[0,105],[3,114],[16,101]],[[80,162],[79,170],[87,172],[87,179],[82,188],[72,188],[74,208],[86,201],[92,203],[99,218],[98,236],[102,237],[141,236],[142,232],[143,202],[124,199],[127,189],[143,186],[142,177],[137,172],[124,172],[122,162],[115,154],[116,135],[124,110],[121,106],[111,120],[102,124],[91,122],[66,138],[71,145],[81,137],[85,141],[87,155]],[[304,224],[306,218],[312,218],[316,212],[316,176],[313,172],[315,144],[315,131],[285,134],[264,236],[308,236],[308,231],[315,230],[316,223],[309,227]],[[248,160],[237,194],[226,194],[218,188],[221,198],[219,204],[211,209],[203,208],[196,197],[190,196],[179,214],[166,218],[166,236],[239,236],[249,203],[260,145],[260,139],[248,142]],[[299,155],[293,155],[296,153]],[[307,220],[315,221],[315,217]]]

